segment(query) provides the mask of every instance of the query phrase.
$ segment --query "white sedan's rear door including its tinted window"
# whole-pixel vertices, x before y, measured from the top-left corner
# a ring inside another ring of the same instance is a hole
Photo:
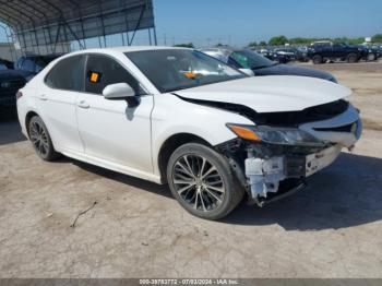
[[[60,151],[83,153],[76,120],[79,93],[84,90],[85,57],[59,61],[45,78],[37,93],[37,107]]]

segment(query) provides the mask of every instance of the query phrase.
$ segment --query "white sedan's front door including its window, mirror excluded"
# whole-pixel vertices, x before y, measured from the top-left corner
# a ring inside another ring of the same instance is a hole
[[[85,74],[85,93],[79,98],[77,118],[86,155],[152,172],[153,96],[143,92],[122,63],[106,55],[88,55]],[[92,74],[97,76],[92,79]],[[115,83],[133,87],[139,106],[129,108],[124,99],[105,99],[104,88]]]

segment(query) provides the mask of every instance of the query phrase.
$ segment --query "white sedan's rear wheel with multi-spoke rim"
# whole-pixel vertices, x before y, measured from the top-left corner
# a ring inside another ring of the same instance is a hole
[[[48,129],[39,116],[31,118],[28,134],[35,152],[41,159],[51,162],[60,156],[60,154],[56,152]]]

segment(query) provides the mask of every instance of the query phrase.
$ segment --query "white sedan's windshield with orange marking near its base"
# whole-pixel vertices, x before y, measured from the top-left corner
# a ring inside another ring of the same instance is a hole
[[[126,56],[162,93],[246,78],[196,50],[144,50],[127,52]]]

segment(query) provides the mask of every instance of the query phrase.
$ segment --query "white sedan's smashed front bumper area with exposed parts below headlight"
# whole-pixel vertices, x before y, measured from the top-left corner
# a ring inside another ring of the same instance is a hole
[[[353,106],[332,119],[298,128],[314,135],[323,145],[277,145],[237,139],[236,143],[230,142],[220,150],[234,162],[234,170],[250,201],[259,206],[302,190],[306,178],[331,165],[343,147],[350,150],[362,132],[359,114]]]

